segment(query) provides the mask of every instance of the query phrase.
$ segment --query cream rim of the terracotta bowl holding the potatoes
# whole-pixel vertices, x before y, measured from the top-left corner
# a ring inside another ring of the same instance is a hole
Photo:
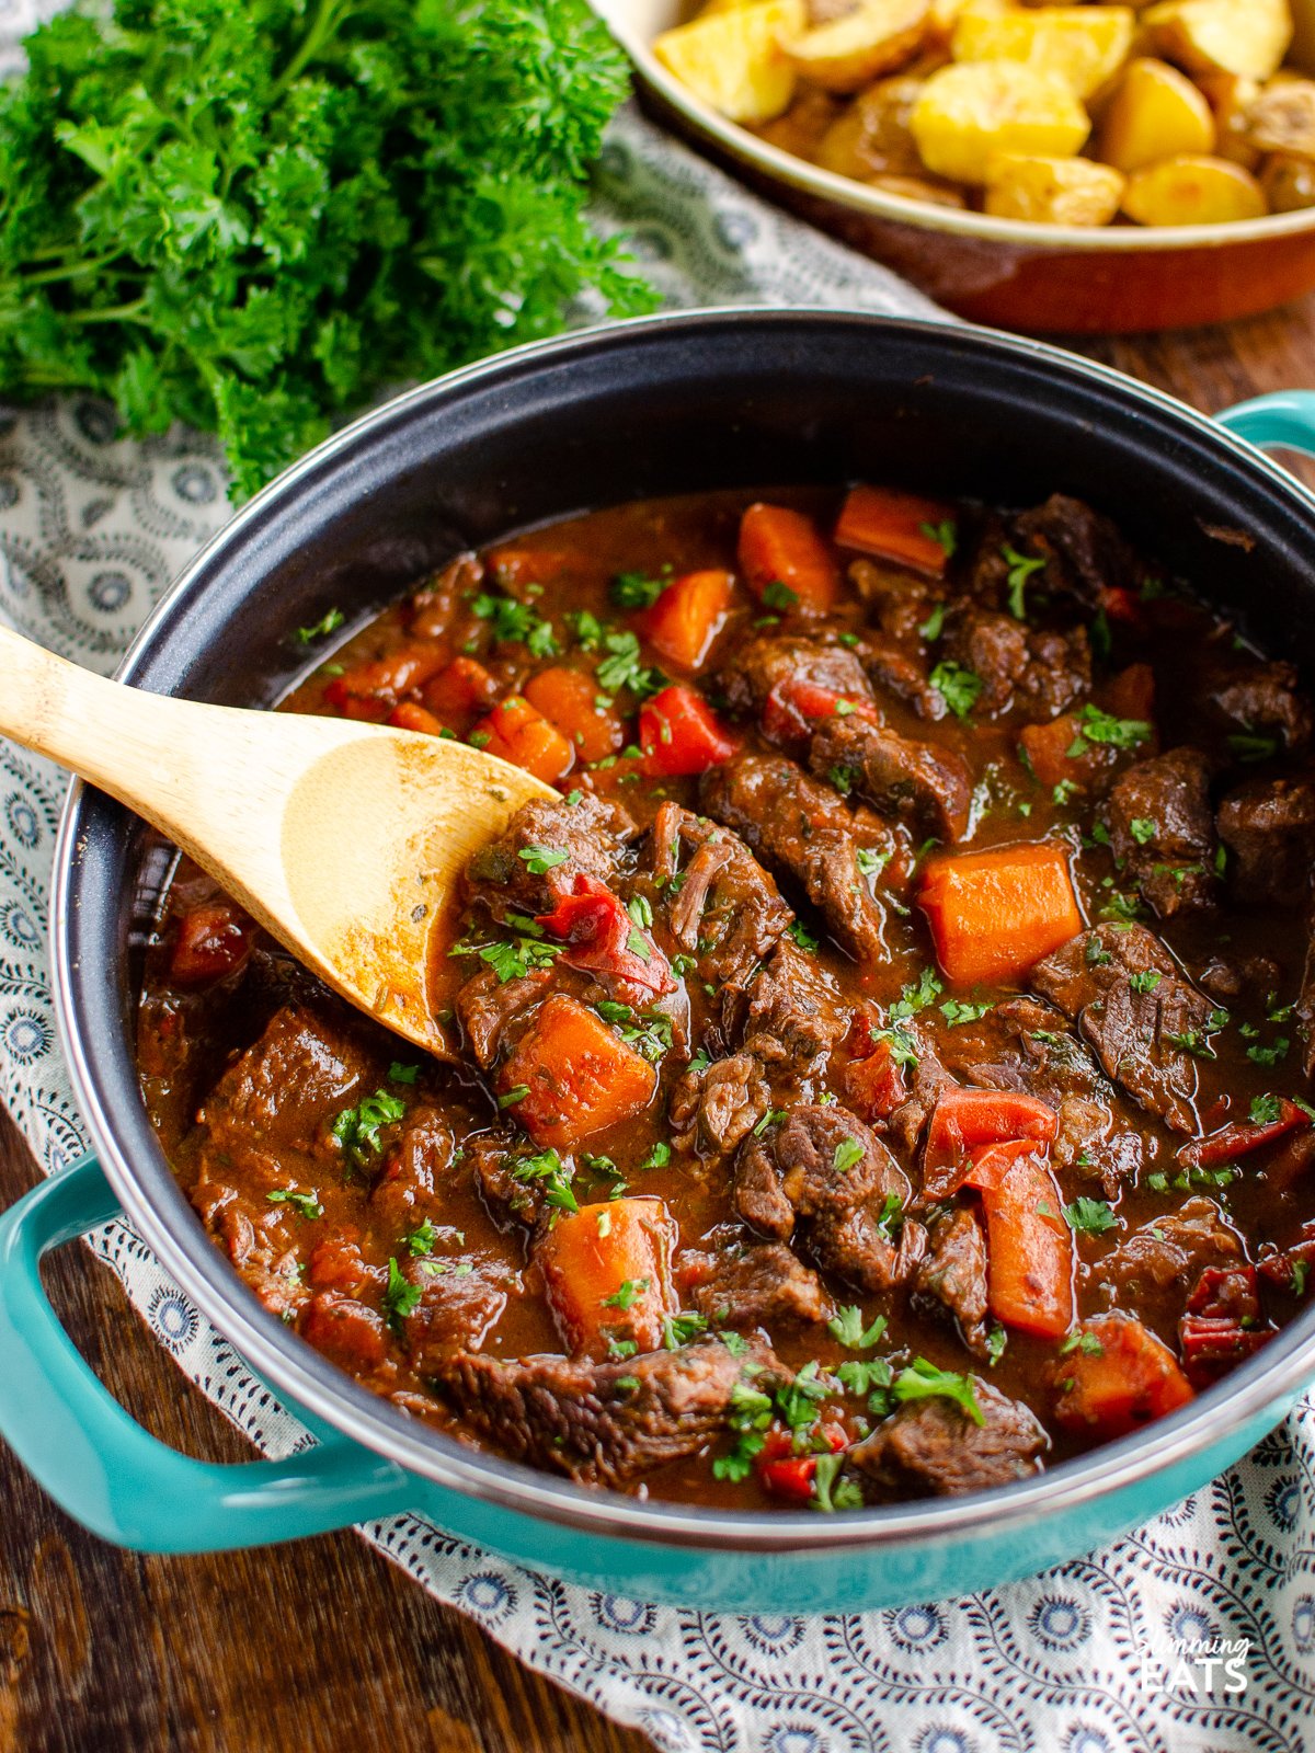
[[[998,219],[992,214],[957,207],[940,207],[935,202],[917,202],[887,189],[856,182],[835,170],[822,170],[805,158],[796,158],[770,140],[761,140],[738,123],[719,116],[708,103],[682,86],[652,54],[629,21],[626,0],[589,0],[594,12],[629,56],[642,84],[652,88],[663,103],[677,110],[696,133],[715,140],[724,151],[743,163],[766,172],[787,188],[819,196],[836,207],[889,219],[919,231],[949,231],[954,237],[978,244],[1001,244],[1034,256],[1099,254],[1138,256],[1159,251],[1226,249],[1231,244],[1261,244],[1315,231],[1315,207],[1299,207],[1289,214],[1261,214],[1259,219],[1215,221],[1213,224],[1184,226],[1075,226],[1040,224],[1031,219]]]

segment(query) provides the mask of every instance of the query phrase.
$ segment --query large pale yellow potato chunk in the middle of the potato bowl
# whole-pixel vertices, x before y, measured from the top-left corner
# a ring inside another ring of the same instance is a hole
[[[1091,131],[1068,81],[1020,61],[943,67],[924,84],[908,124],[933,175],[971,184],[985,181],[994,153],[1070,158]]]

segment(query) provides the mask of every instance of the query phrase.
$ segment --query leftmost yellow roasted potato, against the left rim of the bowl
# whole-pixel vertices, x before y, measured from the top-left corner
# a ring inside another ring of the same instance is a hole
[[[652,53],[729,121],[771,121],[789,107],[796,81],[780,40],[805,21],[805,0],[757,0],[666,30]]]

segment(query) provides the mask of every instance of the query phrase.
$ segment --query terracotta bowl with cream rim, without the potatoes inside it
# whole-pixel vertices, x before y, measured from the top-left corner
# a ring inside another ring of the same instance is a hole
[[[643,107],[757,193],[884,261],[975,323],[1120,335],[1254,316],[1315,287],[1315,207],[1238,224],[1040,226],[905,200],[838,177],[726,121],[649,44],[680,0],[593,0],[638,74]],[[1315,7],[1299,5],[1299,23]],[[1297,58],[1315,67],[1299,30]]]

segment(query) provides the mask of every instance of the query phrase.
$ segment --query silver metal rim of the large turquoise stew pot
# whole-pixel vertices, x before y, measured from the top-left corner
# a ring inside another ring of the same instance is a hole
[[[1229,452],[1243,470],[1268,477],[1296,496],[1311,521],[1315,543],[1315,493],[1306,489],[1261,451],[1217,426],[1175,396],[1141,384],[1112,366],[1064,352],[1047,342],[1005,335],[994,330],[970,330],[957,323],[928,317],[885,317],[866,310],[817,310],[808,307],[724,305],[707,310],[666,312],[633,317],[624,323],[598,324],[547,342],[530,342],[491,359],[479,361],[445,377],[421,384],[372,408],[335,433],[324,444],[293,463],[275,480],[219,529],[184,571],[165,591],[116,671],[132,682],[151,656],[161,624],[182,612],[184,600],[207,591],[205,573],[224,557],[237,535],[258,522],[270,508],[295,498],[302,482],[326,465],[347,459],[375,433],[414,412],[461,396],[472,386],[498,379],[515,379],[522,365],[570,361],[584,354],[643,345],[649,337],[680,330],[707,330],[710,337],[726,328],[752,323],[763,328],[817,324],[824,328],[878,328],[910,338],[936,337],[957,345],[1013,358],[1019,365],[1043,363],[1061,377],[1089,380],[1119,398],[1155,408],[1191,428],[1199,438]],[[708,358],[715,352],[710,347]],[[549,1520],[593,1534],[610,1534],[638,1541],[675,1543],[694,1548],[757,1553],[826,1553],[836,1548],[894,1548],[906,1543],[942,1541],[971,1536],[985,1522],[999,1527],[1026,1527],[1040,1516],[1071,1515],[1096,1499],[1126,1492],[1152,1474],[1189,1464],[1199,1451],[1219,1443],[1254,1418],[1276,1411],[1299,1394],[1315,1376],[1315,1306],[1283,1327],[1255,1357],[1234,1369],[1224,1381],[1198,1395],[1185,1408],[1157,1420],[1115,1443],[1101,1444],[1054,1469],[991,1492],[961,1499],[928,1499],[889,1504],[843,1516],[817,1516],[808,1511],[721,1511],[684,1504],[640,1501],[617,1492],[556,1480],[521,1462],[473,1450],[391,1408],[379,1395],[352,1381],[344,1371],[314,1352],[303,1339],[270,1315],[214,1248],[210,1239],[182,1208],[174,1215],[158,1211],[139,1185],[132,1152],[121,1143],[112,1115],[89,1066],[79,1022],[79,971],[74,961],[72,922],[79,908],[77,848],[84,833],[82,815],[91,798],[98,798],[81,780],[74,780],[60,820],[51,884],[51,968],[54,1010],[61,1043],[68,1059],[74,1096],[91,1132],[102,1167],[123,1201],[126,1217],[154,1250],[161,1264],[196,1301],[216,1329],[242,1353],[261,1378],[286,1392],[307,1411],[333,1425],[366,1450],[394,1460],[419,1481],[433,1481],[461,1495]],[[123,812],[124,822],[132,817]],[[135,1080],[135,1066],[132,1069]],[[144,1141],[149,1143],[151,1141]],[[154,1145],[156,1152],[160,1146]],[[167,1169],[163,1152],[160,1166]],[[182,1201],[182,1192],[177,1192]],[[179,1224],[177,1217],[184,1222]],[[293,1408],[295,1411],[295,1408]],[[417,1494],[423,1499],[423,1492]],[[423,1506],[421,1511],[423,1513]]]

